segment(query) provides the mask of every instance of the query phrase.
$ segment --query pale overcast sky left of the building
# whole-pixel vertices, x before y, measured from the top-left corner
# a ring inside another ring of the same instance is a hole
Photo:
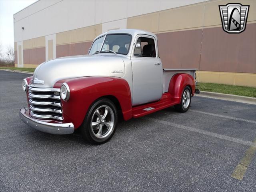
[[[3,52],[8,45],[14,46],[13,14],[37,0],[0,0],[0,42]]]

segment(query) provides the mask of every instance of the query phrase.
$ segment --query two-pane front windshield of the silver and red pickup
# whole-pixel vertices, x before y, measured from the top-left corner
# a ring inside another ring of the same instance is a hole
[[[102,36],[94,41],[89,54],[96,53],[118,53],[128,54],[132,37],[128,34],[108,34],[102,46],[105,36]],[[102,46],[102,50],[100,48]]]

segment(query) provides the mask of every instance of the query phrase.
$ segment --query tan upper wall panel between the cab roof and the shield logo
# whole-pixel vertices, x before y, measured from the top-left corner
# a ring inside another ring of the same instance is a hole
[[[185,6],[160,12],[159,32],[202,27],[204,4]]]

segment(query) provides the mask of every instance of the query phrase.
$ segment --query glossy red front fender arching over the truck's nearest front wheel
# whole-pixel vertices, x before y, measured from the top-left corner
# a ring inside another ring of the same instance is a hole
[[[82,77],[59,80],[54,88],[62,83],[70,88],[70,99],[61,100],[64,122],[72,122],[78,128],[90,105],[103,96],[114,96],[120,103],[124,120],[132,118],[132,99],[128,82],[116,77]]]

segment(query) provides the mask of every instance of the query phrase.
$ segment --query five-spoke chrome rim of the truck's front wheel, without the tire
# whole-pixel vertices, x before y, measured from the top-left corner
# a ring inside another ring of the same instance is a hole
[[[91,130],[96,138],[106,138],[113,132],[115,116],[112,108],[107,105],[98,107],[91,119]]]

